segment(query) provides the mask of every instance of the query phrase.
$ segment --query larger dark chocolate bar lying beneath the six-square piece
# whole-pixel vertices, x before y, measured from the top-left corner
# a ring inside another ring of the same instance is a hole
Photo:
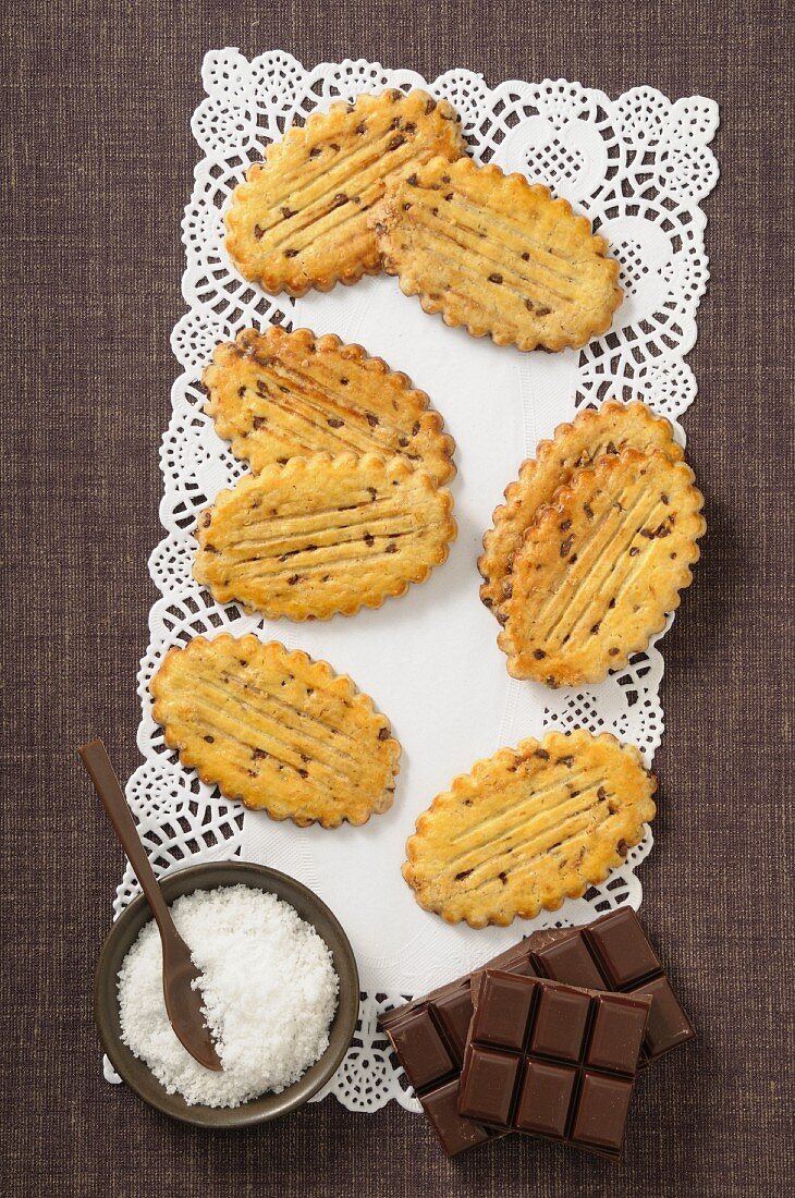
[[[656,1060],[694,1036],[631,907],[609,912],[585,928],[534,932],[481,967],[486,968],[593,990],[651,993],[644,1060]],[[500,1135],[457,1112],[459,1078],[472,1018],[471,981],[480,972],[394,1008],[380,1021],[449,1156]],[[613,978],[619,979],[618,984]]]

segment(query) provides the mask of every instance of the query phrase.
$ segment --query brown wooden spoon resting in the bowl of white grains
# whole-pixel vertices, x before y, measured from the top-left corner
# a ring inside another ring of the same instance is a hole
[[[210,1028],[205,1024],[201,991],[192,986],[192,982],[201,981],[201,973],[174,926],[105,746],[102,740],[92,740],[78,752],[157,920],[163,945],[163,997],[175,1035],[205,1069],[223,1070]]]

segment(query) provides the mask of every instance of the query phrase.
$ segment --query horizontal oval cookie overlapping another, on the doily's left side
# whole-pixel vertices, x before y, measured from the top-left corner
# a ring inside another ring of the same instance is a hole
[[[221,491],[199,518],[194,577],[218,603],[327,619],[380,607],[443,562],[453,497],[401,458],[315,454]]]

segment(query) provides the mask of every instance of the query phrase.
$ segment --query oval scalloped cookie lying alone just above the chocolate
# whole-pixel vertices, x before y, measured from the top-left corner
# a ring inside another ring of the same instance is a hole
[[[479,761],[417,821],[403,877],[449,924],[508,925],[599,885],[643,837],[656,781],[609,733],[550,732]]]

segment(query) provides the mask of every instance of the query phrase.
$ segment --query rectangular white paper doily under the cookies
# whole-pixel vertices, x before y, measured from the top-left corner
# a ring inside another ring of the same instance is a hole
[[[578,406],[607,395],[642,398],[675,422],[692,403],[696,382],[684,356],[696,340],[708,277],[698,205],[717,180],[709,149],[717,105],[702,97],[672,103],[647,87],[611,101],[565,80],[509,81],[490,90],[466,71],[427,83],[364,61],[308,71],[284,52],[250,62],[236,49],[211,52],[202,78],[207,98],[192,128],[205,157],[183,220],[182,292],[189,310],[171,341],[183,374],[172,388],[160,452],[166,537],[150,559],[160,598],[150,613],[139,673],[138,744],[145,762],[131,778],[127,798],[158,872],[244,847],[247,859],[285,869],[330,903],[352,937],[366,994],[354,1046],[320,1097],[334,1094],[358,1111],[390,1099],[417,1109],[377,1030],[381,1010],[479,963],[530,927],[584,922],[641,902],[633,871],[651,847],[650,833],[603,887],[510,930],[450,928],[420,912],[399,864],[415,815],[455,773],[500,744],[553,725],[613,731],[638,744],[648,761],[660,743],[663,666],[656,646],[585,691],[515,683],[494,645],[493,617],[478,601],[474,562],[491,510],[520,461]],[[621,262],[625,300],[612,332],[577,352],[518,355],[448,329],[386,277],[291,301],[268,297],[237,274],[223,248],[221,217],[249,163],[315,108],[386,86],[421,86],[447,97],[462,115],[475,159],[544,181],[588,213]],[[362,341],[429,392],[456,438],[460,532],[450,559],[423,587],[377,612],[323,624],[263,622],[233,605],[218,606],[190,576],[198,512],[244,470],[202,413],[201,370],[218,341],[268,321]],[[259,630],[301,646],[374,695],[403,744],[392,812],[360,829],[298,833],[260,815],[244,817],[237,804],[181,769],[151,719],[147,683],[169,647],[220,629]],[[128,869],[116,914],[136,890]]]

